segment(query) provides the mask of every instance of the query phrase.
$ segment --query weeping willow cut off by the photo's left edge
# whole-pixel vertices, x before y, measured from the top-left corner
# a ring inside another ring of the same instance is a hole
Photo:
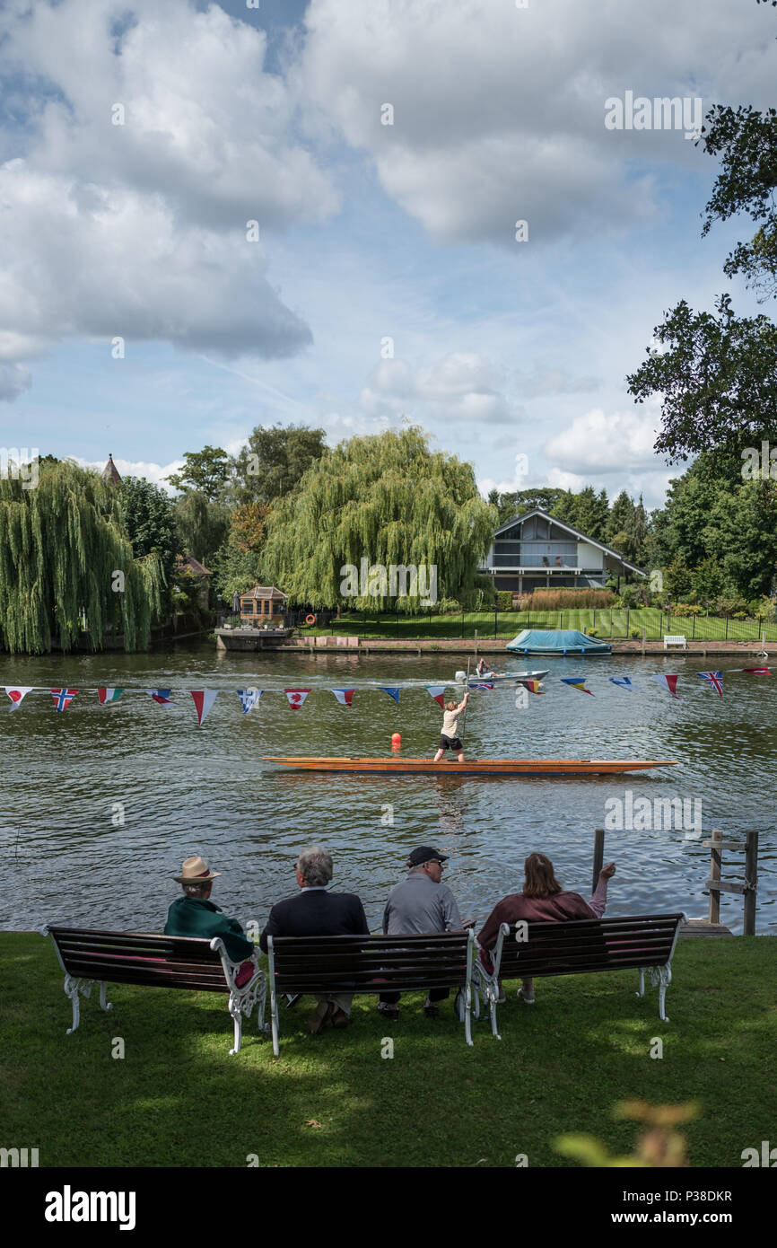
[[[132,557],[117,490],[76,464],[41,462],[39,482],[0,479],[0,645],[14,653],[70,650],[86,630],[101,649],[148,644],[162,605],[158,555]]]

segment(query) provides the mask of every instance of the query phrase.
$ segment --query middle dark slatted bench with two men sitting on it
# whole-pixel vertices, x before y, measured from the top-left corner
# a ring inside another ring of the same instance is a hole
[[[471,1045],[473,931],[429,936],[268,936],[272,1043],[278,1048],[278,996],[422,992],[458,988],[459,1018]]]

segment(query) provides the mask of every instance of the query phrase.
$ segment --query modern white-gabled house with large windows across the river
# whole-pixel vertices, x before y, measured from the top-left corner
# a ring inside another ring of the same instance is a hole
[[[621,577],[647,575],[617,550],[539,509],[496,529],[480,572],[493,577],[495,589],[516,594],[561,587],[597,589],[609,577],[620,583]]]

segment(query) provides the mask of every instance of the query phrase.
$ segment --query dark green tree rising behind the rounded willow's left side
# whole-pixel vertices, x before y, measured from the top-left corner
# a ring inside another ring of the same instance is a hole
[[[257,426],[233,461],[238,503],[268,503],[297,488],[308,468],[327,454],[324,431],[304,424]]]

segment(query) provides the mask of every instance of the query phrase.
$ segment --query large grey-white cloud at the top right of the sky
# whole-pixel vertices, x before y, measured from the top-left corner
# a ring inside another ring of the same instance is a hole
[[[708,0],[700,20],[697,7],[312,0],[304,74],[321,111],[434,238],[516,247],[516,220],[530,241],[619,232],[657,211],[635,162],[707,168],[678,130],[606,130],[607,97],[772,100],[765,15]]]

